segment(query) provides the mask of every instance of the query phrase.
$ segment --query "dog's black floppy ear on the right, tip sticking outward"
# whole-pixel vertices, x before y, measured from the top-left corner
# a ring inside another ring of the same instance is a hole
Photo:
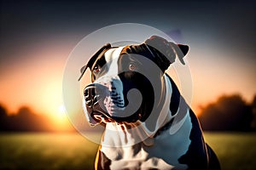
[[[167,63],[165,66],[168,68],[171,65],[176,57],[180,62],[185,65],[183,57],[188,54],[189,46],[183,44],[176,44],[174,42],[168,42],[166,39],[158,36],[152,36],[145,41],[153,52],[154,55],[158,57],[166,57]],[[165,68],[165,69],[167,69]]]

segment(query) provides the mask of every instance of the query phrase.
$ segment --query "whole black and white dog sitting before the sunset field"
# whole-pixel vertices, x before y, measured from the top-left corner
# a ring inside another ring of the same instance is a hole
[[[106,44],[81,69],[84,114],[105,127],[96,169],[220,169],[200,123],[166,74],[189,46],[152,36],[141,44]]]

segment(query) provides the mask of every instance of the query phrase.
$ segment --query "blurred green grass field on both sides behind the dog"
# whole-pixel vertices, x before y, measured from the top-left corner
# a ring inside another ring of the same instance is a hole
[[[256,169],[256,133],[205,133],[223,169]],[[1,133],[0,169],[93,169],[97,144],[78,133]]]

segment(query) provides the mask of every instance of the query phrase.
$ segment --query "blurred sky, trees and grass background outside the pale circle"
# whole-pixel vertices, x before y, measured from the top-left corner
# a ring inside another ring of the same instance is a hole
[[[93,169],[97,144],[68,121],[62,75],[83,37],[118,23],[189,45],[191,107],[207,142],[224,169],[255,169],[255,8],[249,0],[0,0],[0,169]]]

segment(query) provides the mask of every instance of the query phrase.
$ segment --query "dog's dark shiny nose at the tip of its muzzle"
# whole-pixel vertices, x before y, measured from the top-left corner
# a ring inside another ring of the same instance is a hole
[[[84,99],[87,107],[92,107],[98,103],[102,97],[102,89],[96,84],[90,84],[84,88]]]

